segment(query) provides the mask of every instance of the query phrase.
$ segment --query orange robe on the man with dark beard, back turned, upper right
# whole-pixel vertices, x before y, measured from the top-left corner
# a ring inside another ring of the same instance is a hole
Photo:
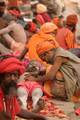
[[[74,48],[75,44],[75,36],[68,28],[61,28],[58,30],[56,35],[56,41],[59,45],[68,50],[70,48]]]

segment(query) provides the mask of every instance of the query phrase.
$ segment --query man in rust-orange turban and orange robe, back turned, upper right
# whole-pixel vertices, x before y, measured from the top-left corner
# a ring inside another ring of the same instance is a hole
[[[64,49],[75,47],[75,31],[78,18],[76,15],[69,15],[66,19],[66,26],[59,29],[56,35],[56,40]]]

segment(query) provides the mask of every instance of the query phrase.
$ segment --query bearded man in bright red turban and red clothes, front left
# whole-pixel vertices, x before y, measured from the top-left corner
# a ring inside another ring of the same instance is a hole
[[[24,72],[23,64],[14,56],[0,56],[0,119],[15,120],[15,116],[24,119],[46,120],[42,115],[28,112],[20,107],[17,100],[17,80]]]

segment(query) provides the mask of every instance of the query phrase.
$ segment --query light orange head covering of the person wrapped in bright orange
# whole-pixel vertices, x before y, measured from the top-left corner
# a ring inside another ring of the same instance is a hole
[[[45,24],[43,24],[40,28],[40,31],[43,33],[50,33],[50,32],[54,32],[54,30],[57,30],[57,26],[51,22],[47,22]]]

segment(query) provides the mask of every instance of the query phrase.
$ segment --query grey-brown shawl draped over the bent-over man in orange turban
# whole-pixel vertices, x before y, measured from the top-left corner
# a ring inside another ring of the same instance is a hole
[[[60,71],[63,73],[66,93],[70,100],[74,92],[80,89],[80,59],[62,48],[56,49],[55,57],[57,56],[69,58],[67,63],[62,64]]]

